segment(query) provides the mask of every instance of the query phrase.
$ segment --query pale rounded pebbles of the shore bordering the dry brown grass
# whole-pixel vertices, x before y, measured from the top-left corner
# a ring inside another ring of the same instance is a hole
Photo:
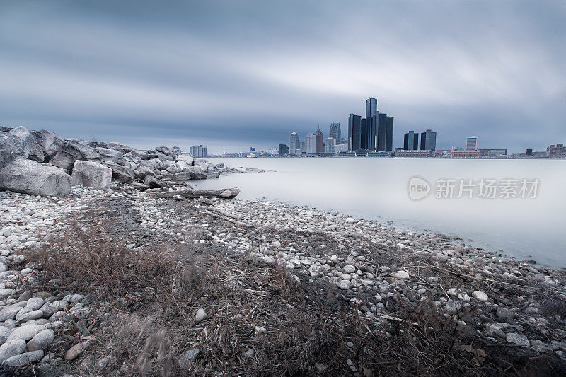
[[[72,370],[68,363],[86,348],[88,340],[83,340],[62,354],[50,352],[61,341],[60,330],[78,327],[91,315],[91,298],[72,287],[55,293],[30,290],[40,270],[26,257],[47,236],[62,231],[69,218],[108,199],[127,202],[139,230],[161,234],[163,243],[191,245],[199,253],[246,254],[286,267],[300,284],[335,286],[336,297],[377,328],[403,320],[399,302],[416,307],[429,301],[478,340],[566,359],[566,277],[561,270],[485,253],[434,233],[398,233],[344,214],[262,201],[151,199],[136,187],[113,185],[108,190],[74,187],[59,198],[0,193],[4,367],[32,363],[47,373],[64,363]],[[189,207],[198,218],[186,214]],[[171,220],[175,211],[187,219]],[[128,247],[146,247],[140,239]]]

